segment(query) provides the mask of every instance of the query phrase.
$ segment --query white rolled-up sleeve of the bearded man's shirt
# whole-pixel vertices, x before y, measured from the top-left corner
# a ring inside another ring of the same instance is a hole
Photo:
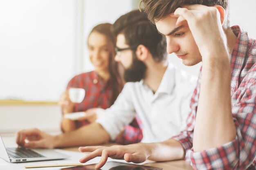
[[[108,132],[111,140],[115,140],[124,126],[135,117],[132,91],[132,84],[126,83],[115,103],[106,109],[106,114],[96,120]]]

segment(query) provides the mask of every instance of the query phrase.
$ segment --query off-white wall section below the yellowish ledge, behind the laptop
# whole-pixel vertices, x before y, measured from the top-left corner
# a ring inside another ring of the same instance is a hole
[[[58,105],[1,105],[0,134],[27,128],[60,132],[61,109]]]

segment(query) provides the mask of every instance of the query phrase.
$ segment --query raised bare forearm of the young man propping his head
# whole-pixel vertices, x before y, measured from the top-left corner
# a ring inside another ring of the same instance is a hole
[[[215,148],[236,137],[231,113],[228,55],[224,53],[220,58],[205,61],[203,64],[193,137],[194,151]]]

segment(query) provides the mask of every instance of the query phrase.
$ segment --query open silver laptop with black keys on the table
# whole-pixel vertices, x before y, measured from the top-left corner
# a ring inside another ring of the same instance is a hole
[[[5,148],[0,135],[0,158],[7,162],[28,162],[65,159],[69,156],[53,149]]]

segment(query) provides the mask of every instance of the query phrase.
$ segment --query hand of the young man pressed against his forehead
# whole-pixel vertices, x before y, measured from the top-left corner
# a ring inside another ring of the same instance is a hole
[[[223,53],[223,50],[227,50],[227,39],[222,28],[225,10],[222,7],[218,5],[214,7],[199,4],[184,5],[170,15],[177,18],[177,26],[186,24],[189,26],[203,60],[204,56],[210,53]],[[219,48],[220,45],[222,48]]]

